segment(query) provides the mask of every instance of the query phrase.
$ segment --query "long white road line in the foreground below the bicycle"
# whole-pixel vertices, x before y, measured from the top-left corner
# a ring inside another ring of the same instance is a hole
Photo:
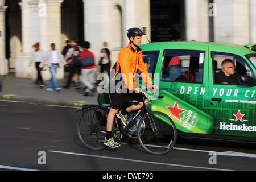
[[[232,170],[230,170],[230,169],[219,169],[219,168],[209,168],[209,167],[199,167],[199,166],[187,166],[187,165],[180,165],[180,164],[159,163],[159,162],[151,162],[151,161],[146,161],[146,160],[114,158],[114,157],[109,157],[109,156],[79,154],[79,153],[64,152],[64,151],[49,150],[48,152],[54,152],[54,153],[59,153],[59,154],[69,154],[69,155],[89,156],[89,157],[93,157],[93,158],[105,158],[105,159],[114,159],[114,160],[125,160],[125,161],[129,161],[129,162],[157,164],[157,165],[163,165],[163,166],[187,167],[187,168],[208,169],[208,170],[216,170],[216,171],[232,171]]]

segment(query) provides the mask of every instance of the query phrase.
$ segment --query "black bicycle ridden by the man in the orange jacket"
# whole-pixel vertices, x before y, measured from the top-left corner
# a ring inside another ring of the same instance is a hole
[[[143,94],[145,96],[145,93]],[[163,96],[158,98],[161,99]],[[167,154],[176,143],[175,124],[168,115],[159,111],[150,111],[144,97],[143,102],[143,107],[126,126],[115,116],[113,137],[121,142],[131,127],[137,127],[139,144],[144,150],[154,155]],[[106,147],[103,142],[106,136],[106,118],[109,109],[109,105],[84,105],[81,110],[76,111],[76,113],[82,111],[77,122],[77,134],[82,144],[91,150],[102,150]]]

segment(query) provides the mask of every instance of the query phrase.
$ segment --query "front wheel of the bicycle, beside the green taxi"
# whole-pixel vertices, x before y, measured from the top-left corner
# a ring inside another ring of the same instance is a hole
[[[151,132],[151,139],[148,141],[148,131],[145,131],[144,123],[150,123],[147,130]],[[177,130],[174,122],[168,115],[155,111],[144,115],[139,121],[137,136],[141,146],[154,155],[167,154],[177,139]]]

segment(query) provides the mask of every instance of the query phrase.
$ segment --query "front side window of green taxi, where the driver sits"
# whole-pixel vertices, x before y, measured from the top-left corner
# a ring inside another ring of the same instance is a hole
[[[217,81],[217,75],[222,71],[222,62],[224,60],[230,60],[234,64],[234,74],[230,75],[230,77],[234,77],[237,79],[238,76],[247,75],[250,77],[254,76],[253,70],[247,64],[247,62],[238,55],[233,55],[229,53],[220,53],[220,52],[212,52],[212,64],[213,64],[213,83],[220,84]],[[238,85],[238,82],[236,83]],[[233,85],[229,84],[228,85]]]

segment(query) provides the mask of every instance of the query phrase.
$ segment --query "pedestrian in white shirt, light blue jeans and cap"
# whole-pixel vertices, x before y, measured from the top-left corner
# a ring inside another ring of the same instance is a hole
[[[43,68],[44,63],[47,63],[49,67],[49,71],[51,72],[51,80],[49,80],[49,83],[47,85],[47,90],[48,91],[54,91],[53,86],[55,86],[55,91],[59,92],[61,90],[57,79],[56,79],[56,73],[57,73],[57,68],[59,67],[60,63],[67,64],[67,62],[64,60],[63,55],[59,51],[55,49],[55,43],[51,44],[51,50],[46,52],[46,57],[44,60],[40,63],[39,69]]]

